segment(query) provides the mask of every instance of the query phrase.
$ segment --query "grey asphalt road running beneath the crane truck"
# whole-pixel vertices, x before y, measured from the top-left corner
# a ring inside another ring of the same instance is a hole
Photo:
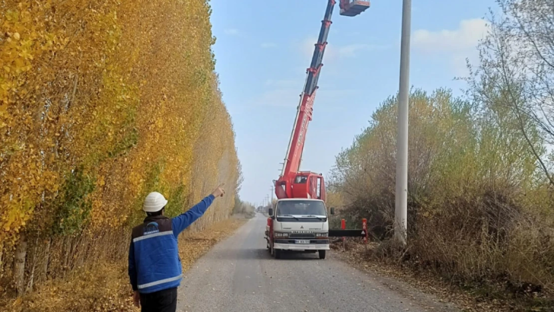
[[[257,214],[199,259],[183,278],[177,311],[453,311],[429,295],[392,290],[334,259],[334,250],[325,260],[316,253],[272,258],[264,231]]]

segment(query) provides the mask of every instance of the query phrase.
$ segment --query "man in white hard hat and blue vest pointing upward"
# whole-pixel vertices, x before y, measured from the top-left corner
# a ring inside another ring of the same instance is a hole
[[[129,246],[129,278],[136,306],[142,312],[175,312],[182,267],[177,237],[201,217],[213,200],[223,197],[223,184],[187,212],[175,218],[163,216],[167,200],[158,192],[146,196],[144,222],[132,230]]]

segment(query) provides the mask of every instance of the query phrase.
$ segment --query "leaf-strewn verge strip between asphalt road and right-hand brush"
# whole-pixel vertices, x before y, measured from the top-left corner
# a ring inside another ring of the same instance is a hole
[[[401,280],[424,293],[437,296],[439,301],[452,302],[463,311],[554,311],[552,294],[520,294],[519,291],[507,289],[497,280],[484,280],[481,283],[456,280],[431,267],[425,267],[417,260],[409,259],[409,252],[388,241],[369,243],[367,254],[357,239],[347,238],[346,252],[342,252],[342,242],[339,241],[333,243],[331,248],[339,259],[358,269]]]

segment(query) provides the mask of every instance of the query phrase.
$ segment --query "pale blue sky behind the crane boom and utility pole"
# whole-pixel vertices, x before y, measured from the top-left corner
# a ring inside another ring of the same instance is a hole
[[[260,204],[279,176],[327,1],[210,3],[216,71],[244,175],[240,196]],[[410,84],[460,94],[464,84],[453,78],[466,74],[466,57],[476,60],[489,7],[494,0],[414,1]],[[372,1],[357,17],[340,16],[336,4],[301,170],[327,176],[379,103],[396,94],[401,19],[401,0]]]

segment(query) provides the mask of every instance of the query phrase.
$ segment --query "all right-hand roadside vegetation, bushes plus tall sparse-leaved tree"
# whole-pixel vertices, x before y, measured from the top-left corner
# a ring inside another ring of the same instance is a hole
[[[408,245],[392,243],[397,98],[336,157],[329,206],[370,257],[433,272],[517,309],[554,308],[554,4],[499,0],[464,96],[412,89]],[[335,220],[337,222],[337,220]],[[336,227],[337,225],[334,224]],[[506,308],[507,309],[507,308]]]

